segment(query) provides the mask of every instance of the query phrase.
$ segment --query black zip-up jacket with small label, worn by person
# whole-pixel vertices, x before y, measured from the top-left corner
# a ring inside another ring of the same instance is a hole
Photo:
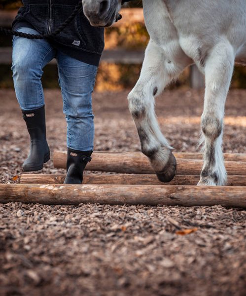
[[[78,0],[22,0],[12,27],[35,29],[40,34],[55,31],[72,13]],[[58,50],[87,64],[98,66],[104,50],[104,29],[92,27],[81,11],[49,42]]]

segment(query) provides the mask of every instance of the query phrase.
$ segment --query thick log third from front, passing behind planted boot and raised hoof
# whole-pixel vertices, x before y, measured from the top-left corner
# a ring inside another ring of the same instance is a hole
[[[54,152],[54,166],[66,168],[67,152]],[[200,175],[203,160],[177,158],[176,175]],[[225,161],[228,175],[246,175],[246,162]],[[146,156],[134,153],[93,153],[88,171],[115,172],[127,174],[154,174]]]

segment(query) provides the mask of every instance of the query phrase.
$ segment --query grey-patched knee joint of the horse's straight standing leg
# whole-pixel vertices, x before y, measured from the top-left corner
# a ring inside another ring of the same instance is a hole
[[[222,133],[223,122],[217,117],[204,116],[201,121],[201,126],[204,135],[211,140],[215,140]]]

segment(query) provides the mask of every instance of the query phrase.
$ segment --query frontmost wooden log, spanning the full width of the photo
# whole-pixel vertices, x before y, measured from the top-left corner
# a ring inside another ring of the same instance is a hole
[[[246,187],[160,185],[0,184],[0,203],[47,205],[143,204],[246,208]]]

